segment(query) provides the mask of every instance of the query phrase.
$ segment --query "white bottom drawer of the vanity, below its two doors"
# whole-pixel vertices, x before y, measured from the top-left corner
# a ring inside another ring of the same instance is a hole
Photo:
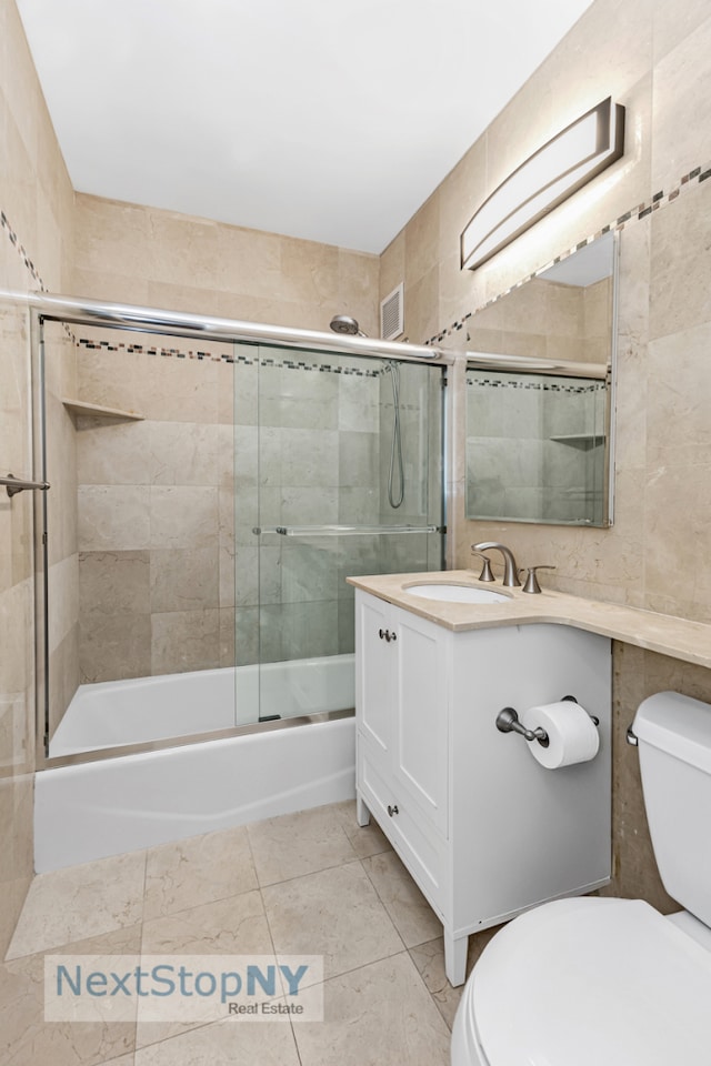
[[[447,871],[447,841],[422,822],[411,809],[407,795],[398,795],[397,786],[387,783],[378,760],[371,761],[367,745],[359,737],[358,788],[365,806],[375,818],[412,877],[441,919]],[[397,813],[389,814],[388,807]]]

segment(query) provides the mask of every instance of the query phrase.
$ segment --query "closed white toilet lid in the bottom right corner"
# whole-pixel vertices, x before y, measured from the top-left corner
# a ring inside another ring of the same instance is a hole
[[[523,914],[472,980],[491,1066],[711,1063],[711,953],[639,899],[562,899]]]

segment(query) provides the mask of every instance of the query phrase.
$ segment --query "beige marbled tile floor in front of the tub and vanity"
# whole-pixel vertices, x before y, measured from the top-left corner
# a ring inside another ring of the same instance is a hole
[[[324,1020],[43,1020],[44,953],[141,952],[322,955]],[[0,1062],[448,1066],[460,994],[424,898],[341,803],[38,875],[0,966]]]

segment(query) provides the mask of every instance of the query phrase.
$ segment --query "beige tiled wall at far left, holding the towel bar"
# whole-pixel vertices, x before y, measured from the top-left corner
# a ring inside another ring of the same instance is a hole
[[[0,289],[69,285],[73,193],[13,0],[0,0]],[[0,309],[0,467],[29,476],[29,338],[24,312]],[[58,376],[71,370],[64,358]],[[57,486],[59,506],[63,490]],[[54,486],[52,487],[54,491]],[[70,532],[68,536],[70,536]],[[32,494],[0,491],[0,954],[32,876],[34,766]],[[53,560],[60,563],[60,552]],[[58,631],[56,630],[54,633]]]

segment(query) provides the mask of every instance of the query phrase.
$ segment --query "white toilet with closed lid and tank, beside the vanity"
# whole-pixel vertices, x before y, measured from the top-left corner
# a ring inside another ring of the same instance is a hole
[[[634,736],[659,872],[685,909],[578,897],[510,922],[467,982],[452,1066],[710,1066],[711,706],[658,693]]]

